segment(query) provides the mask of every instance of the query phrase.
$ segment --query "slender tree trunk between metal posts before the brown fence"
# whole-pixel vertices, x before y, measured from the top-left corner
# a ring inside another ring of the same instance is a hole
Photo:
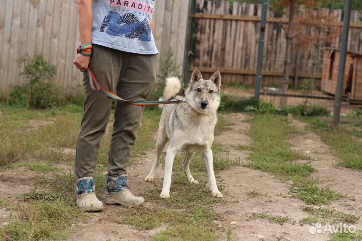
[[[283,94],[287,94],[288,85],[289,85],[289,73],[292,63],[293,51],[292,51],[292,41],[293,41],[293,27],[294,27],[294,12],[297,0],[290,0],[289,7],[289,23],[288,30],[286,34],[287,44],[286,44],[286,54],[284,59],[284,69],[283,69]],[[287,105],[287,97],[282,96],[281,98],[281,106]]]

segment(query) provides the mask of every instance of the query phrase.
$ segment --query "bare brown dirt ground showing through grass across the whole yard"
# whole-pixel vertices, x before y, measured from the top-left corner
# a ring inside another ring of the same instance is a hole
[[[216,136],[215,142],[230,146],[229,157],[240,158],[241,163],[247,162],[248,151],[236,150],[237,145],[247,145],[250,137],[245,134],[249,125],[245,120],[245,114],[225,115],[235,125],[230,130]],[[294,120],[293,125],[304,131],[305,123]],[[156,136],[156,135],[155,135]],[[300,150],[312,157],[311,165],[318,172],[313,177],[320,179],[321,187],[347,194],[347,198],[334,202],[326,207],[329,209],[362,215],[362,177],[360,172],[336,167],[337,159],[330,153],[320,137],[311,131],[304,131],[304,135],[296,136],[291,140],[293,148]],[[72,152],[72,149],[67,150]],[[152,166],[155,151],[149,150],[129,168],[130,189],[139,195],[146,190],[161,186],[163,170],[157,170],[155,183],[145,183],[144,177]],[[71,170],[70,166],[59,166],[65,170]],[[6,172],[0,172],[0,196],[16,199],[22,193],[34,190],[33,181],[39,178],[39,174],[27,168],[18,168]],[[218,181],[222,181],[225,188],[222,190],[224,199],[215,206],[218,213],[222,214],[224,221],[217,221],[220,240],[225,240],[227,231],[231,229],[231,240],[327,240],[328,234],[310,234],[310,225],[298,225],[298,220],[308,216],[302,209],[304,202],[291,198],[289,190],[291,184],[282,183],[267,173],[251,170],[244,167],[232,167],[230,170],[220,172]],[[250,195],[252,192],[258,195]],[[98,192],[100,200],[104,200],[104,194]],[[356,200],[356,201],[353,201]],[[147,202],[145,205],[150,206]],[[117,212],[124,207],[105,204],[105,210],[101,213],[93,213],[91,220],[77,229],[71,237],[65,240],[150,240],[151,236],[165,229],[161,226],[154,230],[139,231],[128,225],[118,224],[115,220]],[[156,207],[150,207],[156,208]],[[284,225],[270,223],[265,219],[250,219],[250,213],[267,213],[280,215],[295,220],[295,224]],[[0,209],[0,224],[6,225],[9,221],[9,213]],[[358,221],[357,229],[362,227]]]

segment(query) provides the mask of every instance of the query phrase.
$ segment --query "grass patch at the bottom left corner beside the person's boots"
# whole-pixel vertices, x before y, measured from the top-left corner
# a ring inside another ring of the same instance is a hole
[[[57,240],[68,237],[89,215],[75,205],[73,174],[55,174],[37,181],[34,189],[7,208],[16,213],[5,232],[14,240]]]

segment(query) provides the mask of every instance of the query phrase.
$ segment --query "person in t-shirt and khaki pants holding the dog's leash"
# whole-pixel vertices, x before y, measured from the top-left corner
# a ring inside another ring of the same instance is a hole
[[[155,79],[158,50],[151,31],[155,0],[79,0],[81,46],[92,43],[92,56],[78,53],[73,63],[93,71],[98,83],[126,100],[145,101]],[[94,173],[101,139],[111,113],[111,98],[92,91],[84,74],[84,115],[76,145],[74,173],[77,206],[101,211]],[[141,205],[128,187],[127,166],[143,107],[116,101],[108,158],[105,203]]]

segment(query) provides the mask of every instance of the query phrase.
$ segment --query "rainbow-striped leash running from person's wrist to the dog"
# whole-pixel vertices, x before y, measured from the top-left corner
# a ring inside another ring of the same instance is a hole
[[[93,53],[93,46],[92,44],[85,44],[83,46],[79,46],[79,48],[77,49],[77,53],[80,53],[83,56],[92,56]],[[128,104],[134,105],[134,106],[156,106],[156,105],[165,105],[165,104],[180,104],[182,102],[185,102],[185,100],[183,99],[178,99],[175,101],[129,101],[129,100],[124,100],[121,97],[117,96],[115,93],[106,90],[105,88],[103,88],[97,81],[96,77],[94,76],[91,68],[87,68],[85,70],[85,73],[88,76],[89,79],[89,85],[91,86],[91,89],[95,92],[100,92],[112,99],[115,100],[119,100],[119,101],[123,101],[126,102]]]

